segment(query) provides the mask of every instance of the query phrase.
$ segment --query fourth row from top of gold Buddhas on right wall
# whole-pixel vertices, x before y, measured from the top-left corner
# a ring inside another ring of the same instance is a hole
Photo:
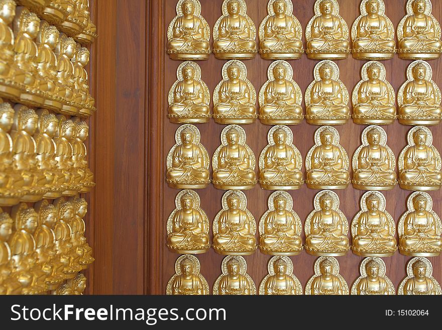
[[[302,223],[293,210],[293,199],[285,191],[273,192],[268,209],[258,224],[258,246],[262,253],[278,256],[298,255],[305,248],[316,256],[344,256],[350,248],[364,257],[392,256],[397,248],[396,225],[385,209],[385,196],[368,191],[361,197],[360,210],[349,224],[339,209],[338,195],[321,190],[314,197],[314,209],[304,222],[305,244],[302,244]],[[256,222],[247,209],[242,191],[227,191],[222,198],[223,208],[212,224],[213,244],[209,237],[209,220],[200,207],[198,194],[193,190],[180,191],[176,208],[167,220],[167,246],[181,254],[205,253],[213,246],[222,255],[250,255],[257,249]],[[407,200],[408,210],[397,225],[399,252],[407,256],[438,256],[442,251],[442,223],[432,210],[432,199],[426,192],[413,192]]]

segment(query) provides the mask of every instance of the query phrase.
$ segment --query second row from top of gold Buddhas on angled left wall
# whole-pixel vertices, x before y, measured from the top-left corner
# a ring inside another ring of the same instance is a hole
[[[0,0],[0,53],[0,97],[65,115],[95,111],[88,49],[12,0]]]

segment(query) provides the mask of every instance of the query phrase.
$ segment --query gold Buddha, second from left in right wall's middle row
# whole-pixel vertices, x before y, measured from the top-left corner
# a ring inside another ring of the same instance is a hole
[[[213,185],[217,189],[252,189],[256,184],[255,155],[246,144],[241,126],[229,125],[221,132],[221,145],[212,157]]]

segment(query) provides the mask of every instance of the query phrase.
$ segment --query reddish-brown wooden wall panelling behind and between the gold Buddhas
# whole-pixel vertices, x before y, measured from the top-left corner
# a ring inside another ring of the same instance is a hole
[[[202,15],[210,28],[221,15],[222,0],[200,0]],[[248,15],[258,28],[267,15],[267,0],[246,0]],[[341,16],[351,28],[359,16],[359,1],[338,0]],[[406,0],[386,0],[386,14],[395,27],[405,13]],[[303,29],[313,14],[313,0],[294,0],[294,15]],[[174,135],[178,125],[167,119],[167,93],[176,80],[176,69],[181,63],[172,61],[166,54],[166,30],[176,15],[176,0],[106,0],[93,2],[94,22],[99,38],[92,48],[91,79],[98,108],[93,116],[90,138],[91,168],[95,173],[97,187],[91,193],[89,212],[89,240],[94,248],[95,263],[89,271],[89,293],[94,294],[164,294],[169,278],[174,274],[174,264],[179,256],[170,253],[166,247],[166,221],[175,208],[174,199],[178,189],[171,189],[165,182],[165,157],[174,145]],[[433,1],[433,15],[442,22],[442,4]],[[305,44],[305,40],[304,40]],[[442,60],[431,61],[433,80],[442,86]],[[406,80],[405,70],[411,61],[398,59],[384,61],[387,79],[397,91]],[[208,61],[198,62],[202,79],[210,92],[221,79],[221,68],[225,61],[211,55]],[[267,80],[267,68],[271,61],[262,60],[259,55],[254,60],[245,61],[248,79],[257,92]],[[312,81],[313,67],[317,61],[302,59],[290,61],[294,69],[294,80],[304,92]],[[353,87],[361,79],[360,69],[365,61],[352,57],[337,62],[341,70],[341,80],[351,94]],[[304,110],[305,112],[305,110]],[[225,125],[197,125],[201,132],[201,143],[210,157],[219,145],[219,134]],[[244,125],[247,143],[258,157],[267,144],[270,126],[259,121]],[[360,145],[360,134],[366,126],[349,122],[338,126],[341,144],[350,159]],[[409,126],[399,123],[383,126],[388,135],[388,145],[396,157],[406,145]],[[294,144],[303,159],[313,145],[313,134],[317,126],[305,122],[290,126],[294,132]],[[433,144],[442,151],[442,128],[431,127]],[[258,168],[256,168],[258,170]],[[305,168],[303,168],[305,173]],[[221,208],[223,190],[209,186],[198,189],[201,206],[210,221]],[[267,209],[267,198],[272,191],[262,190],[259,185],[246,191],[248,208],[258,223]],[[313,209],[313,197],[318,190],[302,189],[291,191],[294,210],[304,223],[307,214]],[[348,221],[359,210],[359,199],[364,193],[351,186],[336,190],[341,200],[341,210]],[[410,194],[397,186],[386,192],[387,210],[396,223],[405,211],[406,198]],[[442,215],[442,193],[430,192],[433,209]],[[350,237],[350,236],[349,236]],[[212,287],[220,274],[223,256],[213,250],[198,255],[201,273]],[[248,273],[257,285],[267,273],[270,256],[257,251],[245,257]],[[291,257],[294,274],[304,286],[313,274],[316,257],[302,252]],[[409,257],[398,252],[384,258],[387,276],[397,288],[405,276],[405,264]],[[353,255],[338,257],[341,274],[349,286],[359,276],[362,258]],[[442,283],[442,257],[430,258],[433,276]]]

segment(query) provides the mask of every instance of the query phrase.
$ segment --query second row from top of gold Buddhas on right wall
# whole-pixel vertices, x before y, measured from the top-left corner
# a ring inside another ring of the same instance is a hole
[[[407,80],[396,94],[386,79],[385,66],[378,61],[365,63],[360,80],[352,93],[350,115],[349,92],[339,79],[338,65],[329,60],[314,67],[314,80],[305,91],[305,119],[312,125],[342,125],[353,117],[356,124],[387,125],[399,119],[404,125],[437,125],[442,120],[442,97],[432,80],[431,66],[425,61],[412,62]],[[183,62],[177,69],[177,80],[168,94],[168,117],[172,123],[207,123],[210,117],[219,124],[251,124],[259,117],[267,125],[296,125],[303,119],[302,91],[293,80],[293,68],[286,61],[274,61],[268,68],[268,80],[257,94],[247,79],[243,62],[224,64],[222,78],[213,91],[213,115],[210,93],[201,80],[201,69],[195,62]]]

